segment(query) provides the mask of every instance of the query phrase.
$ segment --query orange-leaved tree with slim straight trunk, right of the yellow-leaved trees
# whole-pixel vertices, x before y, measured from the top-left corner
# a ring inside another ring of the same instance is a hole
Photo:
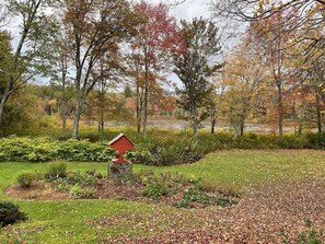
[[[286,19],[286,14],[279,12],[269,19],[252,23],[249,33],[254,36],[256,45],[260,47],[264,63],[268,68],[266,75],[268,82],[277,89],[277,112],[279,138],[283,137],[285,101],[283,95],[301,82],[295,78],[295,63],[291,61],[291,49],[285,48],[294,39],[290,26],[278,26]]]

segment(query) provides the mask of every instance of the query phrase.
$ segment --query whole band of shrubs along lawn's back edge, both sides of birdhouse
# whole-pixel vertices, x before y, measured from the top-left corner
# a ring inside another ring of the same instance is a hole
[[[68,160],[81,162],[107,162],[116,156],[116,151],[108,148],[107,142],[91,141],[111,139],[114,131],[98,133],[88,129],[81,133],[89,140],[58,141],[46,137],[36,138],[2,138],[0,141],[0,161],[46,162]],[[126,135],[135,142],[136,149],[127,152],[126,158],[132,163],[147,165],[174,165],[193,163],[207,153],[218,149],[324,149],[325,133],[307,133],[302,137],[285,135],[279,140],[275,135],[245,133],[234,138],[230,132],[200,132],[196,138],[188,131],[169,131],[149,129],[144,140],[135,130]]]

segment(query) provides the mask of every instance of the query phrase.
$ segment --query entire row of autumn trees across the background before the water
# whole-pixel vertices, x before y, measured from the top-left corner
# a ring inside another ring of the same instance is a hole
[[[228,124],[235,138],[243,137],[245,124],[259,123],[280,140],[290,128],[292,137],[315,132],[321,141],[324,3],[252,1],[258,8],[249,19],[241,8],[231,13],[239,1],[222,2],[213,3],[217,19],[177,23],[167,4],[149,1],[5,0],[2,136],[77,139],[80,126],[95,123],[104,135],[113,120],[147,138],[148,118],[163,117],[189,120],[195,136],[205,120],[212,133],[216,124]],[[227,36],[218,34],[218,18],[227,11],[249,23],[221,60],[220,39]],[[45,84],[33,84],[36,79]]]

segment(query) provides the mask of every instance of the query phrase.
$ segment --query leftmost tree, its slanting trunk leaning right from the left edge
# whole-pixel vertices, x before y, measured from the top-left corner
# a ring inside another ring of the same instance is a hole
[[[51,0],[7,0],[8,12],[14,16],[18,26],[18,45],[13,50],[11,73],[4,85],[0,102],[0,126],[4,107],[9,97],[33,77],[46,71],[42,57],[47,51],[51,39],[51,21],[45,9],[53,4]]]

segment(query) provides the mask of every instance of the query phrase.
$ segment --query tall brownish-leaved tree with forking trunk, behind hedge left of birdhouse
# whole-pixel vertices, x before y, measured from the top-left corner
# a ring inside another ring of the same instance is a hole
[[[68,30],[74,60],[76,111],[72,138],[78,138],[79,123],[89,93],[97,80],[91,73],[105,55],[115,55],[134,30],[134,14],[124,0],[66,0],[63,23]]]

